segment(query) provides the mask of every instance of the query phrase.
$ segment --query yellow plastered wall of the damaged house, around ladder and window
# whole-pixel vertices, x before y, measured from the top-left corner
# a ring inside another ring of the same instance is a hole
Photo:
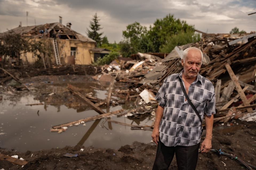
[[[53,45],[52,45],[52,39],[51,38],[45,38],[45,39],[32,39],[36,41],[42,41],[44,44],[47,45],[48,50],[50,50],[50,59],[51,63],[56,63],[55,61],[55,55],[53,51]],[[70,56],[70,50],[71,47],[76,47],[76,56],[75,56],[75,64],[77,65],[87,65],[91,64],[93,61],[93,53],[90,52],[90,49],[93,49],[95,47],[94,43],[81,43],[81,41],[78,40],[68,40],[68,39],[57,39],[58,44],[58,50],[59,50],[59,57],[62,64],[67,63],[67,56]],[[30,64],[35,63],[38,58],[33,53],[26,53],[21,55],[21,59],[24,63],[26,63],[26,57],[27,61]]]

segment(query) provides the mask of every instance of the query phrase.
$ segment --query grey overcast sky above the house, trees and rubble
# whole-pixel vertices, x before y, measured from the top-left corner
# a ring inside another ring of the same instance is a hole
[[[237,26],[246,32],[256,30],[256,0],[0,0],[0,32],[28,25],[62,24],[86,35],[90,20],[97,12],[103,35],[119,42],[122,31],[135,21],[149,27],[157,18],[174,14],[196,29],[208,33],[228,33]]]

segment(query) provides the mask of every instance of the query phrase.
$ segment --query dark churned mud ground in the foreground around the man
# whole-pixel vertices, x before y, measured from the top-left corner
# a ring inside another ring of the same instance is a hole
[[[256,123],[236,120],[231,126],[214,127],[212,148],[233,154],[245,162],[256,165]],[[81,148],[84,150],[81,151]],[[0,161],[6,169],[152,169],[157,146],[154,143],[134,142],[119,150],[75,146],[25,153],[1,148],[1,154],[18,155],[28,163],[21,168],[7,161]],[[68,158],[66,153],[78,154]],[[31,157],[31,155],[33,156]],[[176,160],[169,169],[177,169]],[[199,153],[197,169],[245,169],[238,161],[217,153]]]

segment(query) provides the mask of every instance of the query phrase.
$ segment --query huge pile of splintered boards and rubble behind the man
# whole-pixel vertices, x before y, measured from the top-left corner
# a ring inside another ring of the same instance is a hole
[[[115,76],[116,81],[127,83],[123,89],[115,89],[112,93],[125,97],[126,100],[134,99],[136,107],[142,104],[141,99],[147,105],[155,103],[154,95],[163,80],[183,69],[183,50],[197,47],[204,56],[200,74],[211,80],[215,86],[219,113],[215,121],[226,123],[230,118],[255,115],[256,33],[230,35],[198,32],[202,34],[201,41],[176,46],[169,54],[138,53],[131,56],[135,60],[115,60],[104,66],[103,75],[109,74]]]

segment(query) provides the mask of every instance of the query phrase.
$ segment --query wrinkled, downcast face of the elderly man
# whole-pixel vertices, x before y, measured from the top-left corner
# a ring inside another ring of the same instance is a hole
[[[201,68],[201,59],[201,53],[198,50],[189,50],[185,60],[181,60],[186,77],[194,78],[198,75]]]

